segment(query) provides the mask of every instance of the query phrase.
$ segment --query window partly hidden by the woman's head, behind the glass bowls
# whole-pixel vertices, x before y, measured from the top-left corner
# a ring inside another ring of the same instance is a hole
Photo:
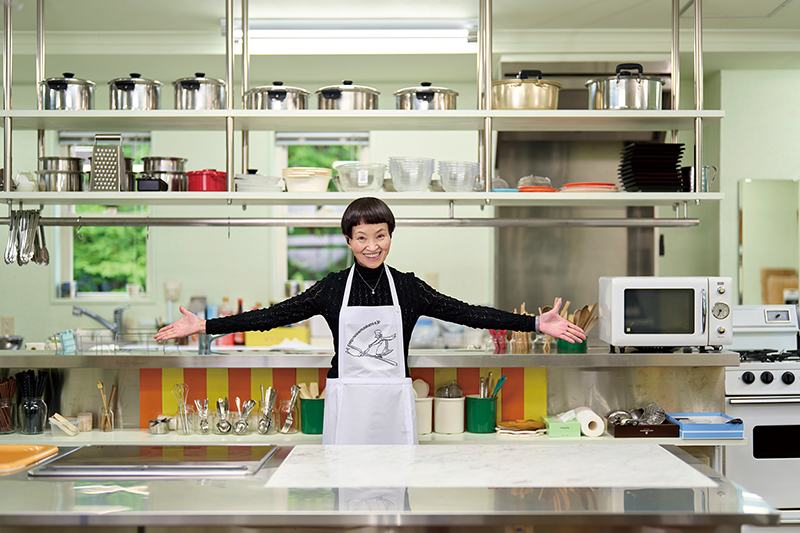
[[[341,161],[359,161],[368,153],[369,136],[366,133],[315,133],[278,134],[279,156],[287,167],[334,168]],[[336,191],[333,181],[329,191]],[[311,212],[309,212],[311,210]],[[339,218],[341,206],[292,206],[294,216],[320,216]],[[329,272],[350,265],[351,256],[341,230],[336,228],[299,228],[286,230],[287,280],[318,281]]]

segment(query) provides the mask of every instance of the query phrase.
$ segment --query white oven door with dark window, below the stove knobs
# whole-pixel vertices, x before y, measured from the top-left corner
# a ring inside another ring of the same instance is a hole
[[[725,476],[777,509],[800,510],[800,396],[730,396],[725,413],[744,421],[748,441],[725,447]]]

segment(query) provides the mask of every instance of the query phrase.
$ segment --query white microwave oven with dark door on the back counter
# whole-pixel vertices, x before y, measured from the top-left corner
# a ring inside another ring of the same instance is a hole
[[[600,340],[620,348],[731,344],[731,286],[718,277],[602,277]]]

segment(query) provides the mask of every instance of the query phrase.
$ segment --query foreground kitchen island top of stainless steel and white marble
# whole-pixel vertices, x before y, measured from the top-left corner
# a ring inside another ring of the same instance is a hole
[[[177,448],[164,454],[189,457]],[[23,470],[0,477],[0,494],[3,531],[723,532],[778,521],[759,496],[658,445],[281,446],[251,476],[46,479]]]

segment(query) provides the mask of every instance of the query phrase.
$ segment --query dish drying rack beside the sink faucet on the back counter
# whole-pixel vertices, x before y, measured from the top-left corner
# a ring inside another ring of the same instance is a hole
[[[150,354],[180,355],[180,346],[174,342],[153,339],[155,330],[138,328],[114,335],[107,329],[68,329],[53,334],[56,355],[117,355],[144,352]]]

